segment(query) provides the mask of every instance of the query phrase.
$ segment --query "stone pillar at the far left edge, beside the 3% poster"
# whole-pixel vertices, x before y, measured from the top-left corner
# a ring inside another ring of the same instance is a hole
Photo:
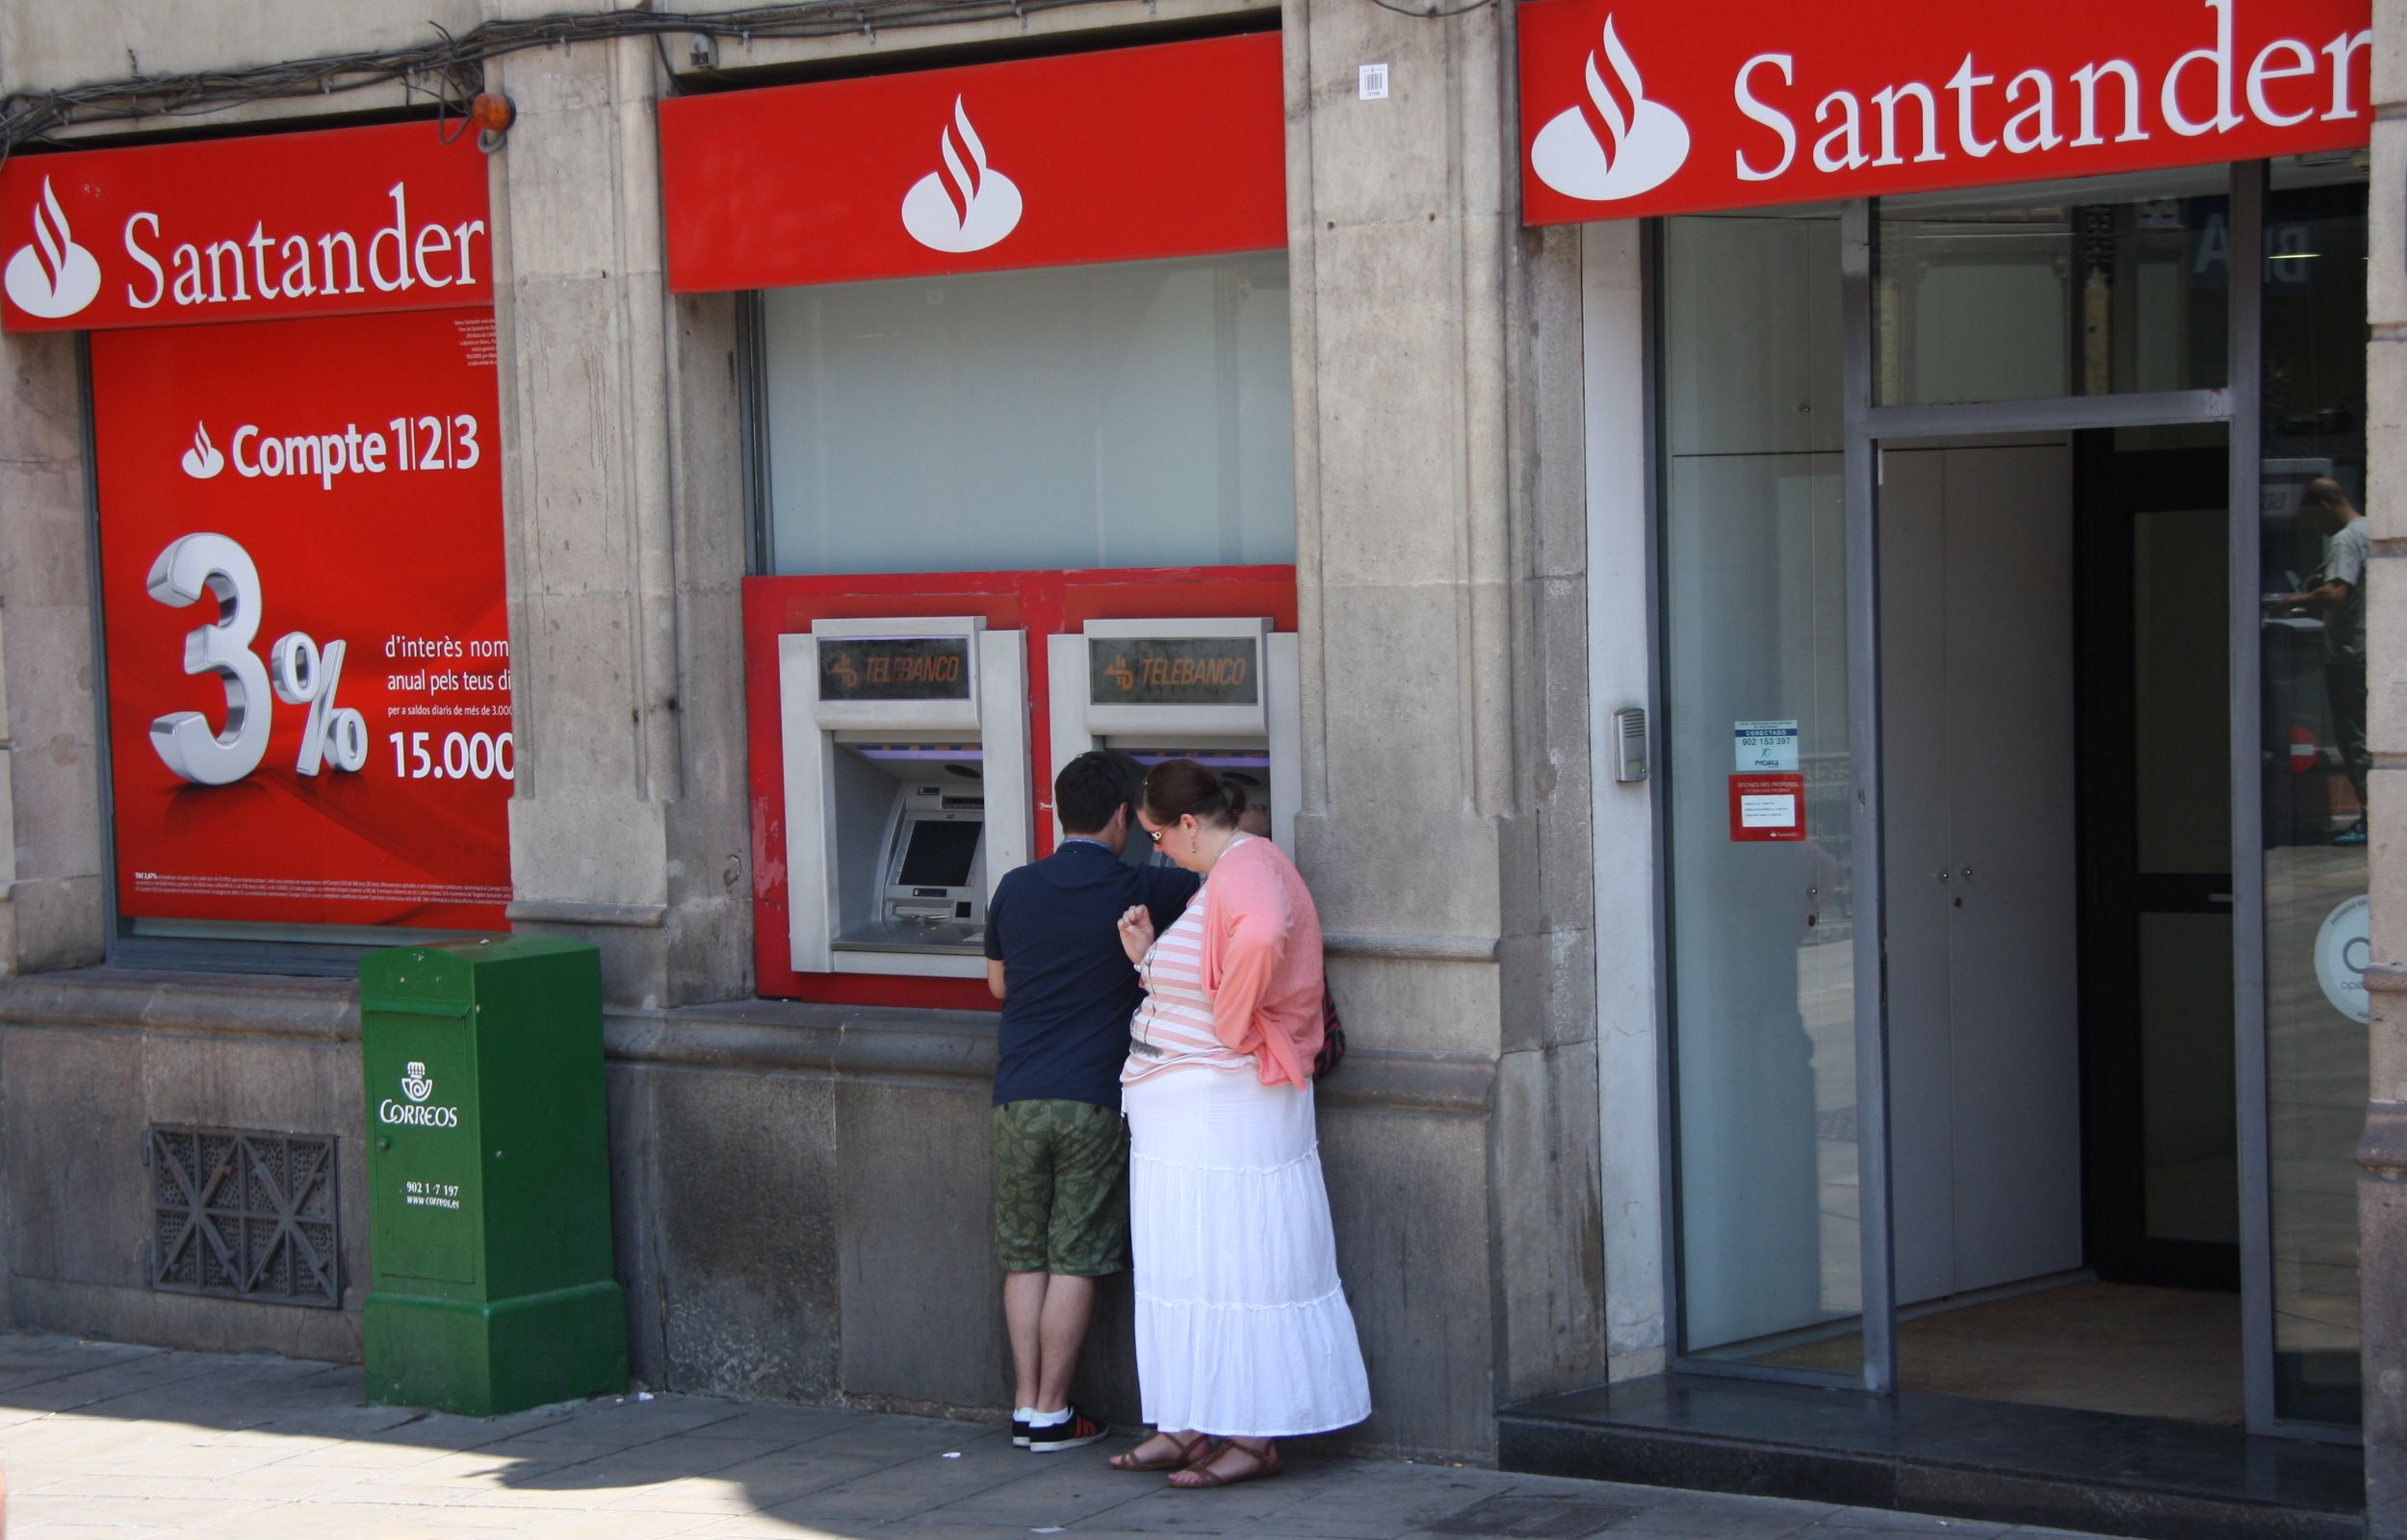
[[[0,975],[99,962],[101,760],[75,337],[0,342]],[[176,659],[161,659],[176,667]]]

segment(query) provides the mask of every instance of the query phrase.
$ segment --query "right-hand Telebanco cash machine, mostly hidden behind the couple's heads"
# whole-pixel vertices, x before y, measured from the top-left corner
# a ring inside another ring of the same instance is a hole
[[[1141,765],[1196,760],[1271,808],[1271,837],[1295,852],[1305,717],[1293,630],[1266,618],[1088,621],[1047,638],[1052,763],[1119,748]],[[1057,830],[1059,833],[1059,830]],[[1143,854],[1143,842],[1131,840]]]

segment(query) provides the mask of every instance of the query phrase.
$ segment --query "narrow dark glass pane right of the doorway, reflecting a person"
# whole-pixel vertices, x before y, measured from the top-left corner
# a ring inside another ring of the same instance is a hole
[[[2263,796],[2275,1410],[2359,1415],[2366,1112],[2366,188],[2284,166],[2265,209]],[[2354,929],[2352,929],[2354,926]],[[2320,965],[2318,965],[2320,962]]]

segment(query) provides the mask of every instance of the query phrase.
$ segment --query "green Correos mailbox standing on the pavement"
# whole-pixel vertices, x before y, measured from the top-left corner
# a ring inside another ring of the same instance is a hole
[[[359,962],[368,1400],[496,1417],[626,1388],[599,953],[508,936]]]

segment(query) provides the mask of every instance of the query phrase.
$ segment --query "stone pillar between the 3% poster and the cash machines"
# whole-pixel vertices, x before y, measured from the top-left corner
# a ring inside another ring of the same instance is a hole
[[[518,103],[493,156],[510,919],[599,943],[619,1006],[722,999],[744,987],[749,943],[729,806],[741,753],[725,748],[744,732],[727,645],[744,549],[734,310],[667,298],[650,38],[513,53],[491,70]],[[703,361],[691,378],[688,359]],[[688,455],[698,426],[727,440]],[[688,662],[712,707],[700,746],[681,710]],[[693,751],[703,818],[676,811]]]

